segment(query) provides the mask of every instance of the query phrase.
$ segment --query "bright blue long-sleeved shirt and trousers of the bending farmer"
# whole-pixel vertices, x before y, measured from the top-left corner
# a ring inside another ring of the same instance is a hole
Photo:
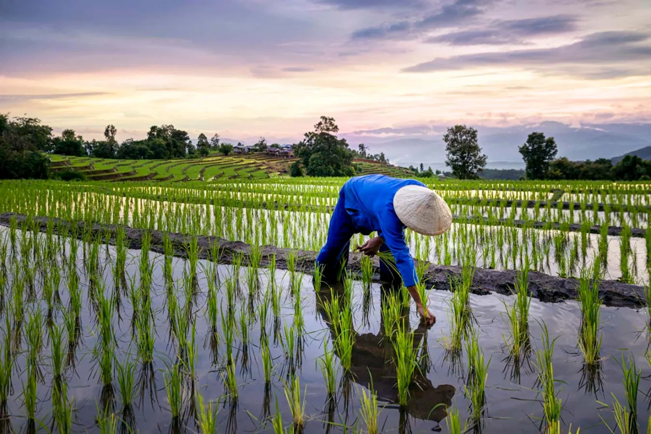
[[[405,225],[393,209],[393,197],[406,185],[424,186],[415,179],[398,179],[385,175],[365,175],[346,181],[330,220],[328,239],[316,261],[337,260],[342,246],[355,233],[369,235],[376,231],[389,248],[396,268],[406,287],[418,283],[413,258],[404,239]]]

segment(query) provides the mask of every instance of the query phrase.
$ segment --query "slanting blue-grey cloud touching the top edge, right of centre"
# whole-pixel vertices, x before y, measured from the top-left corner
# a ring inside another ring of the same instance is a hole
[[[481,4],[486,5],[489,2]],[[454,27],[468,23],[469,20],[483,13],[475,0],[456,0],[444,5],[440,10],[427,14],[415,21],[383,23],[365,27],[353,32],[352,39],[409,39],[422,35],[425,31],[442,27]]]

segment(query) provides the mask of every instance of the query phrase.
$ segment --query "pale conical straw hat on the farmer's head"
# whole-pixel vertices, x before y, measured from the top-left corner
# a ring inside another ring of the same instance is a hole
[[[393,209],[402,224],[421,235],[441,235],[452,225],[450,207],[427,187],[400,188],[393,197]]]

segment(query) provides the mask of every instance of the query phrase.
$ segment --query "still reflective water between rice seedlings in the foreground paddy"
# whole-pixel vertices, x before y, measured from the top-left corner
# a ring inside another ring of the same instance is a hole
[[[82,281],[82,293],[87,294],[88,279],[83,274],[83,261],[81,261],[81,242],[79,242],[79,273]],[[111,263],[115,262],[115,248],[109,246],[107,250],[102,248],[102,266],[104,268],[104,280],[107,282],[107,291],[113,291],[113,276],[111,276]],[[133,276],[135,282],[139,282],[139,271],[137,263],[141,252],[137,250],[128,252],[127,270],[129,276]],[[155,312],[156,324],[156,356],[152,371],[152,377],[146,379],[143,383],[143,393],[138,396],[137,405],[133,408],[135,418],[135,427],[143,433],[161,433],[170,432],[171,416],[169,405],[165,397],[163,383],[163,371],[167,369],[166,363],[170,363],[174,358],[174,345],[169,342],[166,291],[161,266],[163,257],[156,253],[148,254],[150,263],[154,264],[154,282],[152,284],[152,301]],[[182,282],[184,279],[184,268],[187,264],[178,258],[173,259],[174,280],[178,282],[176,291],[180,301],[184,299],[182,293]],[[230,403],[224,399],[224,387],[219,373],[223,368],[223,356],[225,349],[223,343],[217,347],[219,357],[214,360],[211,354],[210,345],[207,345],[204,338],[208,336],[208,319],[206,317],[206,291],[207,282],[203,272],[205,268],[212,267],[212,263],[199,261],[198,273],[199,282],[197,295],[197,321],[196,321],[196,338],[197,338],[197,381],[195,382],[196,390],[201,390],[205,399],[218,400],[222,399],[218,420],[218,432],[272,432],[271,423],[266,419],[265,401],[270,404],[272,414],[275,411],[275,400],[279,410],[283,415],[285,426],[288,426],[291,416],[288,411],[288,405],[284,397],[284,380],[288,369],[287,360],[283,354],[280,341],[274,339],[273,332],[273,314],[269,312],[269,321],[265,332],[270,336],[271,354],[275,360],[275,368],[271,388],[266,389],[263,374],[262,360],[258,353],[258,342],[260,338],[261,326],[260,317],[255,317],[249,323],[250,343],[248,345],[249,362],[243,364],[242,353],[237,357],[238,388],[239,399],[236,403]],[[234,273],[231,266],[218,267],[221,282],[225,282]],[[242,285],[243,302],[247,300],[248,289],[246,287],[245,268],[240,270]],[[260,270],[261,287],[267,287],[269,282],[269,271]],[[11,276],[10,276],[11,278]],[[286,323],[292,325],[294,321],[294,300],[290,295],[290,276],[287,273],[278,270],[275,277],[275,284],[281,288],[283,293],[281,300],[283,308],[279,316],[281,325]],[[10,287],[10,286],[9,286]],[[68,294],[66,291],[65,279],[61,283],[61,298],[64,306],[67,306]],[[449,321],[447,313],[447,301],[450,293],[430,292],[430,308],[437,316],[436,325],[430,330],[424,330],[418,327],[417,315],[413,307],[406,313],[409,323],[415,330],[415,336],[424,337],[423,348],[426,349],[431,360],[431,365],[424,367],[423,390],[414,394],[407,411],[400,411],[395,405],[396,392],[393,388],[395,379],[391,377],[391,369],[385,365],[385,349],[381,340],[381,293],[379,285],[370,287],[370,297],[364,297],[363,285],[356,283],[353,290],[353,309],[354,325],[357,331],[357,341],[353,348],[353,372],[357,375],[352,380],[342,381],[338,393],[336,405],[327,405],[327,394],[324,386],[322,373],[316,366],[316,359],[324,353],[324,343],[331,348],[331,333],[326,321],[322,317],[322,311],[317,303],[314,287],[311,283],[310,276],[304,276],[301,280],[301,306],[302,316],[305,322],[304,347],[301,354],[301,364],[297,366],[297,373],[300,378],[301,389],[305,392],[305,412],[307,413],[307,423],[305,431],[309,433],[321,432],[344,432],[340,426],[345,424],[349,428],[357,422],[359,414],[359,388],[368,386],[368,371],[373,375],[372,380],[375,389],[378,391],[383,407],[380,412],[380,427],[383,432],[432,432],[441,429],[447,432],[445,422],[441,419],[445,417],[445,408],[454,405],[460,409],[462,418],[469,415],[469,402],[464,396],[465,375],[467,369],[464,358],[460,364],[451,363],[447,360],[445,351],[442,349],[439,340],[441,336],[449,332]],[[40,291],[37,291],[40,294]],[[219,292],[220,301],[226,304],[225,290],[222,287]],[[128,297],[122,296],[122,304],[119,310],[119,316],[116,315],[114,320],[115,334],[118,339],[118,359],[124,360],[128,353],[135,351],[130,329],[131,308]],[[536,394],[536,371],[533,366],[531,369],[523,368],[520,372],[519,381],[514,380],[512,369],[504,361],[505,354],[503,350],[503,335],[506,333],[505,322],[502,317],[504,311],[503,302],[510,304],[512,299],[509,297],[491,296],[474,296],[471,295],[471,307],[473,314],[477,319],[477,330],[479,332],[479,342],[486,359],[491,358],[490,369],[488,372],[488,389],[486,396],[488,408],[486,419],[482,432],[484,433],[504,433],[504,432],[521,432],[537,433],[539,432],[539,418],[542,417],[542,406],[537,399],[540,396]],[[102,385],[99,384],[97,375],[96,362],[92,358],[92,349],[94,348],[96,337],[96,325],[94,323],[95,314],[89,307],[88,300],[83,302],[84,310],[82,315],[83,340],[77,349],[76,369],[68,371],[66,378],[69,385],[69,394],[74,396],[75,402],[75,426],[74,430],[97,431],[94,426],[94,417],[97,414],[97,402],[102,395]],[[26,309],[43,308],[42,302],[36,300],[27,302]],[[262,300],[255,300],[255,310],[260,311]],[[240,306],[235,309],[236,317],[240,315]],[[56,312],[55,320],[61,323],[61,312]],[[603,348],[602,356],[605,360],[602,362],[598,392],[593,393],[587,390],[581,378],[581,354],[576,347],[577,328],[579,327],[580,314],[575,302],[565,302],[561,304],[543,304],[533,300],[531,302],[530,325],[533,336],[534,347],[540,347],[540,326],[537,321],[544,321],[549,328],[549,334],[552,338],[558,338],[556,341],[555,355],[553,359],[555,376],[559,381],[557,390],[559,397],[562,398],[564,409],[562,417],[566,426],[572,423],[573,427],[581,426],[581,432],[604,433],[607,432],[600,419],[600,415],[612,424],[613,417],[610,412],[602,410],[597,400],[611,403],[611,393],[614,393],[620,401],[623,402],[624,394],[622,388],[622,375],[618,365],[622,354],[635,358],[637,366],[642,369],[643,377],[641,382],[641,392],[639,394],[638,414],[648,414],[648,399],[645,399],[643,392],[651,388],[651,381],[648,377],[651,375],[643,354],[646,349],[646,338],[639,338],[637,332],[644,329],[648,318],[642,311],[632,310],[630,308],[603,308],[602,309],[602,332]],[[281,326],[282,329],[282,326]],[[221,333],[221,330],[219,332]],[[235,347],[240,351],[243,349],[242,342],[237,338]],[[281,339],[281,336],[278,336]],[[26,343],[23,342],[22,347]],[[37,418],[40,418],[46,426],[50,426],[50,385],[52,384],[51,375],[48,369],[49,346],[45,345],[42,354],[42,363],[44,370],[44,381],[38,384],[39,402],[37,405]],[[14,394],[8,405],[8,422],[13,429],[22,431],[25,426],[23,415],[23,399],[21,397],[21,382],[25,379],[25,356],[19,355],[17,359],[16,371],[14,371]],[[335,356],[335,364],[339,366],[339,360]],[[188,391],[189,393],[189,391]],[[268,398],[268,399],[265,399]],[[443,404],[443,407],[437,407]],[[116,396],[115,407],[120,411],[120,398]],[[193,423],[189,413],[189,399],[184,403],[184,422],[182,422],[181,431],[196,432],[197,427]],[[330,421],[331,423],[327,423]],[[646,429],[646,420],[641,421],[642,431]],[[566,431],[566,430],[565,430]],[[350,429],[348,430],[350,432]]]

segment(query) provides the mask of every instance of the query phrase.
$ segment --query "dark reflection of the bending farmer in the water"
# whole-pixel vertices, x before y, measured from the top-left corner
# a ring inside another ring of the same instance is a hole
[[[340,300],[344,300],[344,285],[342,283],[333,283],[332,285],[322,283],[319,288],[315,287],[315,291],[316,311],[329,326],[331,339],[334,342],[337,339],[336,331],[331,321],[329,321],[326,306],[331,302],[332,297],[339,297]],[[400,288],[396,287],[395,284],[383,283],[380,295],[381,304],[388,306],[389,298],[398,297],[399,294]],[[391,339],[385,336],[385,309],[380,309],[380,311],[382,313],[380,332],[378,334],[358,334],[355,332],[348,377],[350,381],[365,388],[372,386],[378,396],[378,401],[380,401],[380,407],[398,408],[395,351]],[[398,321],[402,321],[402,324],[406,326],[406,330],[409,330],[409,307],[402,307],[399,315]],[[393,328],[395,329],[396,326],[397,324],[394,324]],[[400,432],[410,431],[408,418],[406,417],[408,415],[421,420],[441,422],[447,416],[447,407],[451,405],[455,393],[454,386],[441,384],[435,387],[425,377],[428,364],[430,364],[427,353],[427,326],[421,322],[419,327],[413,331],[413,335],[413,345],[420,356],[419,364],[421,366],[419,366],[420,369],[415,370],[409,388],[408,404],[400,411]],[[339,356],[336,346],[335,354]],[[380,413],[380,418],[381,416],[382,413]],[[381,424],[381,420],[378,423]],[[434,428],[436,429],[437,426]],[[438,430],[436,429],[436,431]]]

